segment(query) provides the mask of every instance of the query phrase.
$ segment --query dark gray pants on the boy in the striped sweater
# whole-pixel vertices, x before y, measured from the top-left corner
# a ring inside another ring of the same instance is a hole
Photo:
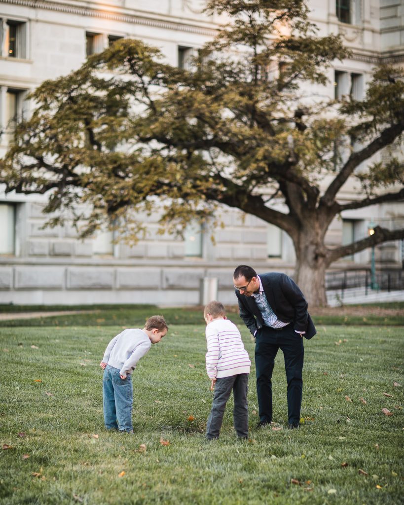
[[[221,377],[215,383],[212,410],[206,426],[206,436],[209,440],[219,438],[226,403],[232,390],[234,396],[234,428],[239,438],[247,438],[248,436],[248,374],[238,374]]]

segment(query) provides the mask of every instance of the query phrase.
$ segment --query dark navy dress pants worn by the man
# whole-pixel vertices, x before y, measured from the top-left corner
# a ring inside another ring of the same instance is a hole
[[[300,421],[301,394],[303,389],[303,338],[291,324],[280,329],[263,326],[256,333],[257,395],[260,420],[272,421],[272,371],[278,349],[283,352],[287,380],[288,423]]]

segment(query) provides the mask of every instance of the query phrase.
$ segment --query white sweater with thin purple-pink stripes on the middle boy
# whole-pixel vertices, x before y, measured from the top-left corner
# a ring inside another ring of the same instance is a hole
[[[249,374],[251,362],[240,332],[228,319],[215,319],[206,327],[206,371],[211,379]]]

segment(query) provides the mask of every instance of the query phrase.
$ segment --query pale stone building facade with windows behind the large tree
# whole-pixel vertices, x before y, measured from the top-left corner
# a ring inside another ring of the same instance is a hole
[[[27,92],[44,79],[65,75],[86,57],[120,37],[140,38],[161,48],[167,62],[186,56],[215,34],[219,18],[202,13],[203,0],[2,0],[0,2],[0,156],[13,119],[29,114]],[[400,0],[311,0],[321,34],[339,32],[352,57],[329,70],[329,96],[362,96],[372,68],[404,61],[404,5]],[[315,92],[316,90],[313,90]],[[342,197],[357,189],[348,183]],[[157,233],[144,216],[147,234],[136,246],[113,243],[110,232],[78,240],[69,226],[43,229],[44,197],[5,194],[0,188],[0,304],[155,303],[192,305],[204,278],[218,280],[218,296],[234,302],[232,271],[247,263],[259,271],[293,273],[290,238],[278,228],[240,211],[222,209],[223,229],[192,226],[184,239]],[[390,228],[404,221],[402,204],[346,212],[328,233],[330,244],[366,236],[371,221]],[[215,243],[210,239],[214,233]],[[402,261],[400,241],[377,248],[380,264]],[[333,268],[368,267],[370,251]],[[212,287],[212,284],[211,284]],[[215,285],[213,284],[215,291]]]

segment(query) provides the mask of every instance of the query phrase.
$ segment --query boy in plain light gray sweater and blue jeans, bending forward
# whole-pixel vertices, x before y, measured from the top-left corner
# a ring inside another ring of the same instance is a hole
[[[107,430],[133,433],[132,372],[136,363],[166,335],[163,316],[151,316],[142,330],[124,330],[108,344],[99,366],[104,370],[103,407]]]

